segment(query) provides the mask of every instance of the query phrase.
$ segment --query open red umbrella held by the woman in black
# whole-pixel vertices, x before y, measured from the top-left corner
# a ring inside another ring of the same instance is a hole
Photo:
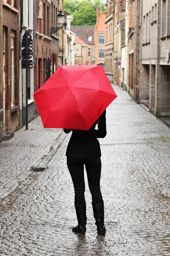
[[[44,128],[89,130],[117,97],[102,66],[62,65],[35,92]]]

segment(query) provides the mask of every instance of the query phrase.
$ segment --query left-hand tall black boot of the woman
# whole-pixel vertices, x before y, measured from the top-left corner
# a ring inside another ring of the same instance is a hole
[[[86,233],[86,204],[79,205],[75,204],[75,211],[77,215],[78,225],[72,228],[73,232],[77,232],[79,234]]]

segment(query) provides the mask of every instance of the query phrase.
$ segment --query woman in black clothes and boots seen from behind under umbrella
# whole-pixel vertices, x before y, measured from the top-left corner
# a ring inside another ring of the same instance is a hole
[[[96,130],[96,124],[98,129]],[[86,201],[84,197],[84,165],[86,167],[88,186],[92,195],[92,206],[95,217],[95,225],[100,235],[105,234],[104,227],[104,202],[100,191],[101,176],[101,150],[97,138],[106,136],[106,110],[87,130],[64,129],[64,132],[72,132],[67,146],[67,166],[75,190],[75,211],[78,225],[72,231],[80,234],[86,232]]]

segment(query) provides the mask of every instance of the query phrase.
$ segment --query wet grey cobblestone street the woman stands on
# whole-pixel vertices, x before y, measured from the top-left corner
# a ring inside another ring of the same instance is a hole
[[[37,117],[0,143],[0,256],[170,256],[170,129],[113,88],[99,139],[106,236],[97,235],[87,179],[87,231],[72,232],[70,134],[44,129]]]

